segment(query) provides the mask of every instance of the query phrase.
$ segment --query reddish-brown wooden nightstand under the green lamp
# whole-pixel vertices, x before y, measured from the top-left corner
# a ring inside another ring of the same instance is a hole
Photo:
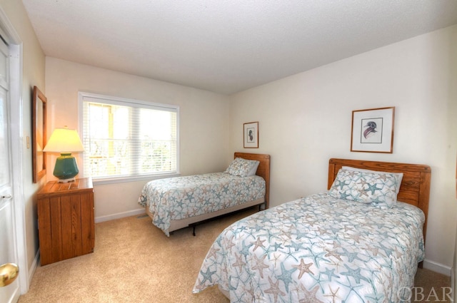
[[[94,252],[94,187],[90,178],[51,181],[37,198],[41,265]]]

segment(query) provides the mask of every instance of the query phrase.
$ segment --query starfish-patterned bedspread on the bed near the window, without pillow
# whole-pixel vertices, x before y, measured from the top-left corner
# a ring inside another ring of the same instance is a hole
[[[265,197],[265,180],[208,173],[152,180],[144,185],[139,203],[154,214],[152,222],[169,235],[171,220],[215,212]]]

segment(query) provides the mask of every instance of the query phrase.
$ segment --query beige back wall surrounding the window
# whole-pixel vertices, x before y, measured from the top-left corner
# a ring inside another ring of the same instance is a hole
[[[46,57],[49,135],[64,125],[79,127],[78,91],[179,106],[181,175],[224,170],[226,159],[233,157],[227,96]],[[77,161],[82,163],[79,157]],[[48,180],[55,179],[54,163],[55,155],[49,155]],[[96,222],[144,212],[137,203],[144,184],[94,184]]]

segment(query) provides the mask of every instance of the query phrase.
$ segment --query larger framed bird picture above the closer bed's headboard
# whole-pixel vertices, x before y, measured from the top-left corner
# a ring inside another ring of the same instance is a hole
[[[392,153],[395,107],[352,111],[351,151]]]

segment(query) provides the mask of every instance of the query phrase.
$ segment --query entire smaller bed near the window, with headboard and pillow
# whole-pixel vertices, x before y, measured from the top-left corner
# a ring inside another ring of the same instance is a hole
[[[156,227],[166,235],[255,205],[268,208],[270,155],[234,153],[224,173],[153,180],[139,197]]]

